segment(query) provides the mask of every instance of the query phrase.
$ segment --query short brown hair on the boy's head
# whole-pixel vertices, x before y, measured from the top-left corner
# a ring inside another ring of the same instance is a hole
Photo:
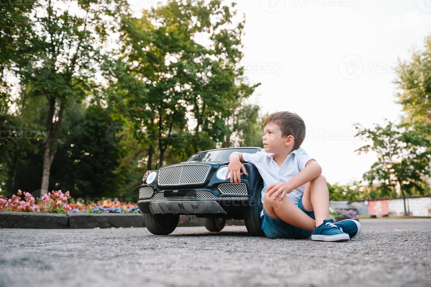
[[[269,123],[275,123],[280,127],[281,136],[294,136],[294,149],[301,146],[305,138],[305,123],[300,116],[287,111],[275,112],[266,117],[263,126]]]

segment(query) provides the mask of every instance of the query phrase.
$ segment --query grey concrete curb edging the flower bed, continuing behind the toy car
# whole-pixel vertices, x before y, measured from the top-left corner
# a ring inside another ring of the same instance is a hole
[[[244,225],[244,220],[228,220],[227,225]],[[203,226],[202,218],[181,215],[179,227]],[[0,212],[0,228],[110,228],[145,227],[141,213],[37,213]]]

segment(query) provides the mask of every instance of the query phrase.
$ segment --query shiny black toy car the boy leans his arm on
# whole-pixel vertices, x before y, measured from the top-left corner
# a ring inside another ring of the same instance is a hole
[[[181,214],[203,219],[206,229],[220,231],[226,219],[244,219],[248,232],[264,236],[260,218],[263,181],[253,164],[240,183],[225,180],[229,155],[255,153],[261,148],[220,148],[202,151],[187,161],[148,170],[139,186],[138,206],[147,229],[156,235],[175,230]]]

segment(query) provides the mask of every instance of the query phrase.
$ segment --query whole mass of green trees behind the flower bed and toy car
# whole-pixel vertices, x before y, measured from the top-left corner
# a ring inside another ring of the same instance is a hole
[[[48,190],[134,201],[148,169],[260,146],[234,5],[171,0],[143,14],[125,0],[0,6],[3,193],[37,196],[48,169]]]

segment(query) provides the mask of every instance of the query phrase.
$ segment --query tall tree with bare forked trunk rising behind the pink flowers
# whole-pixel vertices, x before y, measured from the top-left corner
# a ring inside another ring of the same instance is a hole
[[[19,36],[29,49],[9,69],[25,95],[47,98],[42,195],[48,190],[64,110],[72,101],[81,102],[97,84],[94,75],[103,62],[108,33],[115,31],[125,7],[123,0],[44,0],[34,2],[26,13],[31,30]]]

